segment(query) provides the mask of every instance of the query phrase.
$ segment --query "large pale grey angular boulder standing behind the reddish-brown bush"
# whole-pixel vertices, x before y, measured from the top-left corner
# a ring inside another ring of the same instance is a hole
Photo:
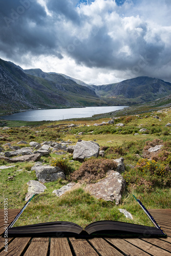
[[[77,142],[73,152],[73,159],[84,160],[85,158],[99,156],[99,144],[94,141]]]

